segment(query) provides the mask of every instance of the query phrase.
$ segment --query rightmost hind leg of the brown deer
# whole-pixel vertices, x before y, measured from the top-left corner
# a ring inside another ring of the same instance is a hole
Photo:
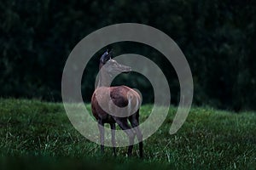
[[[143,158],[143,133],[139,126],[139,111],[129,117],[129,121],[131,122],[131,127],[135,130],[137,135],[137,140],[139,141],[139,150],[140,150],[140,157]]]

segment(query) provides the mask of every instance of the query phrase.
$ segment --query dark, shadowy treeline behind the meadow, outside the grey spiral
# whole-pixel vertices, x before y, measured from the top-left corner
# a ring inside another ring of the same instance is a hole
[[[61,101],[61,74],[68,54],[92,31],[134,22],[164,31],[183,50],[194,78],[194,105],[236,111],[256,109],[256,4],[240,0],[1,0],[0,96]],[[168,77],[172,103],[179,84],[172,66],[143,44],[112,44],[115,55],[143,54]],[[82,92],[90,101],[98,59],[84,72]],[[129,78],[129,79],[128,79]],[[148,80],[137,74],[113,82],[139,88],[153,101]]]

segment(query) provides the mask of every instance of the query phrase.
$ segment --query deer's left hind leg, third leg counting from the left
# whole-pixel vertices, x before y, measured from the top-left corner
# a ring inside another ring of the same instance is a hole
[[[127,118],[125,118],[125,117],[123,117],[123,118],[115,117],[114,119],[115,119],[115,122],[118,123],[119,127],[121,127],[121,129],[123,129],[125,131],[125,133],[127,134],[128,138],[129,138],[129,146],[128,146],[127,155],[131,156],[135,133],[133,133],[133,131],[131,130],[131,127],[127,122]]]

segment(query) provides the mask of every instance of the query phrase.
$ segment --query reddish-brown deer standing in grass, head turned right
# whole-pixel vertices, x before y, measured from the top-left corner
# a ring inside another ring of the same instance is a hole
[[[139,156],[143,158],[143,134],[139,126],[139,106],[142,103],[140,94],[136,90],[129,88],[125,85],[110,87],[111,77],[115,72],[129,73],[131,67],[119,64],[116,60],[112,59],[113,53],[108,50],[102,54],[99,64],[99,77],[96,89],[91,97],[91,111],[96,118],[98,129],[100,133],[101,152],[104,153],[104,124],[109,123],[111,128],[111,143],[113,145],[113,156],[116,156],[116,140],[115,129],[116,123],[126,133],[129,139],[129,146],[127,150],[127,156],[131,156],[133,149],[134,139],[137,136],[139,141]],[[110,95],[110,96],[109,96]],[[130,108],[134,110],[133,114],[127,114],[119,116],[119,113],[110,113],[111,108],[107,108],[108,111],[102,109],[100,103],[108,106],[109,102],[113,102],[113,105],[119,108]],[[130,122],[130,123],[129,123]]]

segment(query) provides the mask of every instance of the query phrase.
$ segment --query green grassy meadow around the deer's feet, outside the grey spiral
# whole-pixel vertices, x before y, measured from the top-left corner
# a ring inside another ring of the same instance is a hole
[[[90,109],[90,105],[86,105]],[[141,121],[152,105],[143,105]],[[256,114],[193,107],[183,127],[169,134],[177,108],[171,107],[160,129],[138,147],[100,154],[69,122],[63,105],[28,99],[0,99],[0,169],[254,169]]]

